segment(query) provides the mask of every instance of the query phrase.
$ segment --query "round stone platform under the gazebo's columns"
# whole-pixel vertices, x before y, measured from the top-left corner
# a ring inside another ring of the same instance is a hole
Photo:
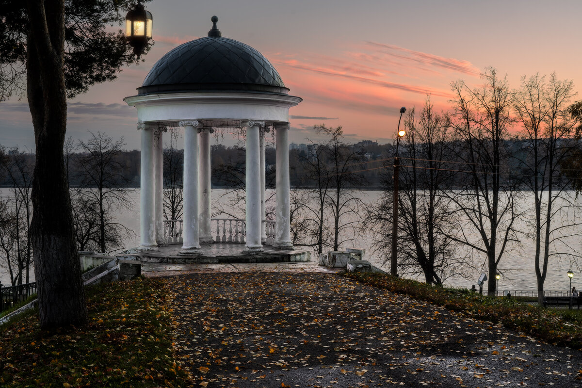
[[[304,250],[278,250],[268,245],[260,254],[244,254],[244,244],[202,244],[200,255],[179,255],[181,245],[164,245],[154,251],[127,250],[116,254],[119,259],[139,260],[143,263],[162,264],[229,264],[229,263],[284,263],[311,261],[311,253]]]

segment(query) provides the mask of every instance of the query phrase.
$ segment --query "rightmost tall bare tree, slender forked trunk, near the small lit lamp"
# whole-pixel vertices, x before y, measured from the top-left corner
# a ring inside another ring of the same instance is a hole
[[[535,244],[535,277],[538,303],[544,302],[544,282],[552,257],[580,257],[575,251],[556,251],[555,243],[563,241],[566,231],[576,225],[567,219],[569,208],[577,205],[566,193],[570,187],[561,176],[560,165],[576,149],[574,120],[570,118],[567,104],[575,95],[572,81],[560,81],[556,74],[549,80],[539,74],[521,79],[516,92],[514,111],[523,126],[521,175],[523,183],[534,195],[533,240]]]

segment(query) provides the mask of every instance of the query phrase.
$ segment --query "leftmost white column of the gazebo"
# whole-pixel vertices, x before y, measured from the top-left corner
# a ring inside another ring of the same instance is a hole
[[[154,129],[147,123],[138,123],[141,130],[140,172],[140,248],[154,250],[155,202],[154,202]]]

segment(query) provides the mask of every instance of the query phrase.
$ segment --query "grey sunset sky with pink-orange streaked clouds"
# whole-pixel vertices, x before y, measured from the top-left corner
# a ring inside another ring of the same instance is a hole
[[[343,126],[348,141],[386,143],[400,106],[420,107],[430,94],[448,109],[450,83],[478,86],[487,66],[513,88],[522,76],[556,72],[582,90],[580,1],[154,0],[147,8],[155,45],[145,62],[69,101],[68,136],[103,131],[139,148],[136,111],[123,98],[162,55],[205,36],[212,15],[224,37],[260,51],[303,98],[290,110],[295,143],[317,139],[321,123]],[[34,151],[26,101],[0,102],[0,117],[0,144]]]

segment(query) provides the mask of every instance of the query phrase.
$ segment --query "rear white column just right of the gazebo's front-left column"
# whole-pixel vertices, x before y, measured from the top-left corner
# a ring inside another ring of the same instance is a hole
[[[200,136],[200,243],[212,244],[212,232],[210,229],[210,134],[211,128],[199,130]]]

